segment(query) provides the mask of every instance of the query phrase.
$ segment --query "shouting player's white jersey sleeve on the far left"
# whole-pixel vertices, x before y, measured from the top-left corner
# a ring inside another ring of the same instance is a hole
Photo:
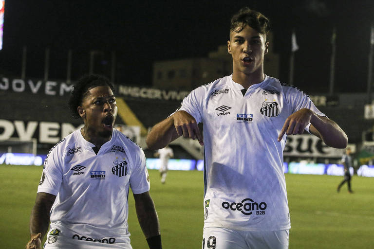
[[[57,144],[58,145],[58,144]],[[45,192],[57,196],[62,183],[62,159],[63,152],[59,146],[51,149],[44,161],[43,172],[37,188],[37,193]]]

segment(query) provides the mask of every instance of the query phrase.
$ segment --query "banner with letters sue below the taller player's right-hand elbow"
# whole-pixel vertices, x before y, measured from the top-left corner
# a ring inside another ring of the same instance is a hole
[[[341,158],[343,150],[327,146],[313,135],[287,136],[283,156],[285,157],[319,157]]]

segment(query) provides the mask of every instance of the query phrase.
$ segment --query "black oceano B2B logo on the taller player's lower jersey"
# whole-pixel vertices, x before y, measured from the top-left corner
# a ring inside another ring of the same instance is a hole
[[[251,215],[254,211],[256,214],[265,214],[265,209],[267,204],[265,202],[254,202],[251,198],[245,198],[241,202],[232,202],[227,201],[222,202],[222,207],[224,209],[230,209],[232,211],[240,211],[245,215]]]

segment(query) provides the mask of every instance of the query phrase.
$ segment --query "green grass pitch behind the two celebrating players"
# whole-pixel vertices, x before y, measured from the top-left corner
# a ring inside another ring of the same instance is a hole
[[[24,248],[41,166],[0,165],[0,248]],[[374,178],[353,177],[354,194],[342,177],[286,175],[291,213],[290,249],[374,247]],[[160,220],[164,249],[199,249],[203,232],[203,173],[169,171],[166,184],[150,170],[150,194]],[[134,249],[146,240],[129,195],[129,227]]]

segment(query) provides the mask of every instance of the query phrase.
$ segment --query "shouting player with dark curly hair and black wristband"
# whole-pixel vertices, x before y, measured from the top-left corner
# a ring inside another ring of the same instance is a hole
[[[150,249],[161,249],[143,150],[113,129],[117,105],[112,83],[82,77],[69,106],[84,127],[58,142],[44,162],[30,217],[26,249],[131,249],[128,195]]]

